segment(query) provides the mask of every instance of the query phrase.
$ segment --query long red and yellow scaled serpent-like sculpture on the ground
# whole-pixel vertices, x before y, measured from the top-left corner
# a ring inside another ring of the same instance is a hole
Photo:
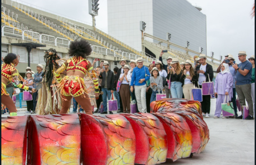
[[[205,150],[199,102],[164,99],[151,112],[2,118],[1,164],[25,165],[27,156],[29,165],[155,165]]]

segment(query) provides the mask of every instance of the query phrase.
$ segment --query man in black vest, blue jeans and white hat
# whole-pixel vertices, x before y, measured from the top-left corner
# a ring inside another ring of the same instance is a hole
[[[111,100],[111,95],[114,93],[115,90],[115,79],[114,79],[114,72],[109,70],[109,63],[108,61],[104,61],[103,66],[105,67],[105,70],[102,70],[100,73],[100,79],[102,79],[102,92],[103,92],[103,107],[104,112],[102,114],[108,114],[108,106],[107,106],[107,100]],[[113,112],[109,112],[110,114],[113,114]]]

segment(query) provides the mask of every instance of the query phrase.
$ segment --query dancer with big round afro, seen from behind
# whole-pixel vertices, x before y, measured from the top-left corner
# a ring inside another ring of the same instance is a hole
[[[92,52],[92,47],[86,40],[71,42],[68,59],[59,69],[54,71],[57,80],[60,82],[57,87],[61,90],[61,97],[64,99],[60,114],[66,114],[71,105],[72,96],[81,105],[86,114],[92,115],[93,109],[90,97],[84,85],[84,76],[88,72],[95,85],[95,95],[99,95],[99,81],[93,65],[86,60]],[[67,70],[67,76],[61,79],[61,73]]]

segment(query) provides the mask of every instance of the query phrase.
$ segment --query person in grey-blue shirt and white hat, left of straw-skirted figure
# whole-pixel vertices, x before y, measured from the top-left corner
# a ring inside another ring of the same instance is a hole
[[[36,111],[36,105],[37,105],[37,96],[38,96],[38,90],[42,88],[42,74],[43,74],[43,65],[42,64],[38,64],[36,67],[36,71],[37,73],[34,75],[34,84],[33,84],[33,88],[36,90],[36,92],[33,94],[33,113],[35,113]]]

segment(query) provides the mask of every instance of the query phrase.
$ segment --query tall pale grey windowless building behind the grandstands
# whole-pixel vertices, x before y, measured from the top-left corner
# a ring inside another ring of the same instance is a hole
[[[141,50],[144,21],[145,33],[164,40],[170,33],[172,43],[206,53],[206,15],[199,10],[187,0],[108,0],[108,32]]]

